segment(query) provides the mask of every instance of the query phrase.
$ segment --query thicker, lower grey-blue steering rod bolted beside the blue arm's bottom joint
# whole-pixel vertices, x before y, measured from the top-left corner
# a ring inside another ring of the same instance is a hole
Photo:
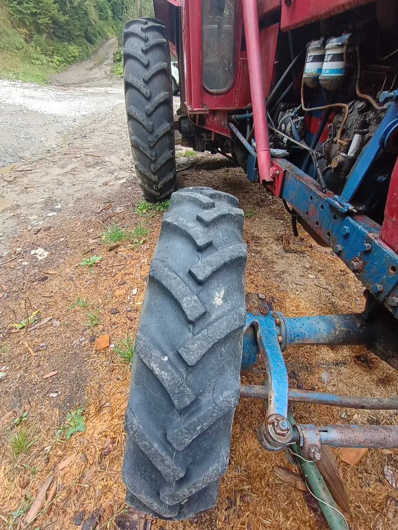
[[[398,448],[396,425],[328,425],[317,427],[323,445],[333,447]]]

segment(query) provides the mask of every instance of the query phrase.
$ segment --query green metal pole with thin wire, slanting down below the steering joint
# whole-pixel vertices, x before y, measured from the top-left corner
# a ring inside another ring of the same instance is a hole
[[[288,420],[292,426],[296,426],[290,410],[288,411]],[[311,487],[314,496],[319,499],[319,508],[321,508],[326,522],[331,530],[347,530],[348,525],[343,515],[340,513],[332,493],[328,490],[323,476],[319,472],[315,462],[303,460],[300,448],[297,444],[289,446],[291,451],[297,455],[296,462],[300,466],[302,474],[305,476],[306,483]]]

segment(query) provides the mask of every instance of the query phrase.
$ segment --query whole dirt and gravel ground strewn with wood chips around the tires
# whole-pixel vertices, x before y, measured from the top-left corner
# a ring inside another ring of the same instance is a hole
[[[125,506],[121,466],[130,374],[115,346],[136,333],[161,213],[134,213],[140,193],[123,85],[115,78],[107,86],[98,83],[38,87],[0,82],[0,110],[6,118],[0,153],[2,160],[8,157],[6,163],[16,161],[0,174],[0,371],[6,373],[0,381],[0,520],[8,527],[15,510],[21,506],[26,512],[49,476],[54,479],[48,491],[55,485],[57,497],[41,506],[44,513],[31,528],[76,528],[72,519],[77,514],[84,510],[85,518],[96,509],[102,527]],[[57,144],[48,142],[51,135]],[[21,160],[25,154],[29,158]],[[247,291],[265,293],[275,310],[288,315],[361,310],[362,286],[352,272],[303,231],[292,237],[278,199],[250,184],[224,158],[198,155],[189,163],[194,165],[185,170],[179,164],[180,187],[211,185],[236,195],[246,211]],[[141,224],[149,233],[142,244],[132,238],[108,251],[100,235],[113,221],[128,229]],[[44,259],[32,254],[38,249],[47,253]],[[80,263],[93,255],[102,259],[90,272]],[[30,316],[37,318],[37,328],[12,326]],[[105,333],[110,346],[98,351],[94,341]],[[285,361],[292,387],[357,395],[398,391],[396,372],[360,347],[290,348]],[[258,365],[244,381],[260,384],[264,377]],[[64,431],[57,437],[59,426],[71,427],[65,417],[75,405],[84,407],[85,432],[66,439]],[[298,404],[292,411],[299,421],[315,425],[397,421],[393,411]],[[24,412],[28,418],[22,422]],[[20,425],[13,427],[18,418]],[[260,403],[241,400],[230,465],[213,510],[181,523],[149,519],[145,528],[324,528],[309,494],[274,474],[276,465],[293,468],[284,453],[267,453],[258,445],[255,431],[262,418]],[[33,443],[15,458],[10,443],[21,428],[28,429]],[[374,449],[348,466],[340,453],[334,451],[350,501],[351,528],[393,530],[398,501],[383,469],[389,465],[396,472],[397,456]],[[12,527],[24,527],[23,517]],[[114,520],[109,525],[117,528]],[[129,525],[143,528],[144,522]]]

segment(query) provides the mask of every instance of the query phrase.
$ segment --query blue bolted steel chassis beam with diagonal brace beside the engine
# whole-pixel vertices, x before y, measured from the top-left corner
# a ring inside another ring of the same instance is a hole
[[[341,196],[322,192],[319,184],[286,160],[276,160],[283,171],[281,197],[356,274],[364,286],[398,318],[398,255],[381,237],[381,226],[360,215],[349,201],[386,149],[398,118],[398,93],[384,95],[387,111],[375,135],[358,157]]]

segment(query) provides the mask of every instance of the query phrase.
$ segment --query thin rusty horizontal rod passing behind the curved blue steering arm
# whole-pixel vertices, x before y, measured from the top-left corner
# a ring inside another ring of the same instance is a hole
[[[267,385],[241,385],[241,398],[268,399]],[[318,405],[329,405],[330,407],[343,407],[347,409],[366,410],[398,410],[398,398],[373,398],[361,396],[345,396],[330,394],[326,392],[314,392],[310,390],[297,390],[289,388],[288,400],[290,402],[314,403]]]

